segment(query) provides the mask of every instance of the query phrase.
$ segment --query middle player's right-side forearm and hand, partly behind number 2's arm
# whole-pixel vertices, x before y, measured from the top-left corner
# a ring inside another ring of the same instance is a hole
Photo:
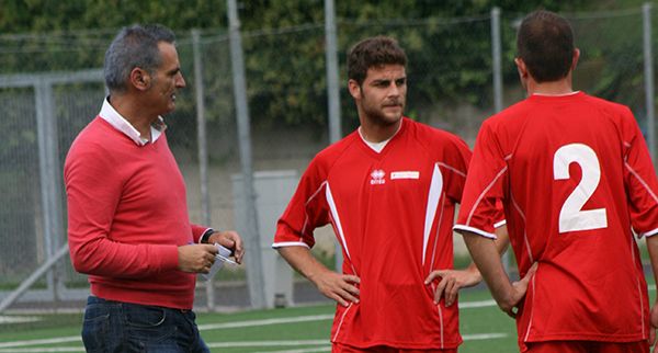
[[[495,230],[496,249],[502,255],[509,246],[510,238],[507,231],[507,226],[502,225]],[[464,270],[434,270],[426,278],[426,285],[430,285],[433,281],[440,280],[434,289],[434,303],[439,304],[441,297],[445,297],[445,306],[451,306],[457,299],[457,293],[461,288],[472,287],[483,281],[483,276],[477,270],[475,262]]]

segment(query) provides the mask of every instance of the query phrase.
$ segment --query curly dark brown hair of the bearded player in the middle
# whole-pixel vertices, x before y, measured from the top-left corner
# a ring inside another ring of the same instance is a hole
[[[361,86],[367,69],[382,65],[407,66],[407,55],[392,37],[381,35],[363,39],[348,53],[348,79]]]

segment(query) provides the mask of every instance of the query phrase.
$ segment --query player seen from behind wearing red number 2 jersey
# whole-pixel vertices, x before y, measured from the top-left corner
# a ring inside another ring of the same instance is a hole
[[[658,270],[658,182],[623,105],[571,89],[572,31],[529,14],[515,64],[529,96],[483,123],[454,229],[500,308],[517,318],[522,352],[649,352],[658,326],[634,239]],[[511,284],[491,217],[502,201],[519,271]]]

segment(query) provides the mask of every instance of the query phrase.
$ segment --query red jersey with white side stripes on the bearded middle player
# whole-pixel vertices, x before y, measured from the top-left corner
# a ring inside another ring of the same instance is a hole
[[[310,162],[277,224],[274,248],[314,246],[331,223],[343,273],[361,278],[360,303],[338,306],[331,341],[356,348],[456,348],[457,306],[433,303],[423,284],[453,267],[455,203],[470,151],[458,137],[404,118],[375,152],[358,132]]]

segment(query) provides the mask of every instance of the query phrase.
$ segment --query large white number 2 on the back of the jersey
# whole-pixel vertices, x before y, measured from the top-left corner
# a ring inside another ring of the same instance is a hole
[[[559,232],[608,227],[605,208],[582,209],[601,181],[601,166],[597,153],[583,144],[560,147],[553,157],[553,178],[568,180],[570,163],[580,166],[582,178],[559,210]]]

